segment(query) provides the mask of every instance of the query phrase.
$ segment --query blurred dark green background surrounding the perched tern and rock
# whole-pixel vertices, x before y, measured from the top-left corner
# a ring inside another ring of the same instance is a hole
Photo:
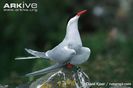
[[[24,1],[24,0],[23,0]],[[50,61],[21,60],[24,48],[46,51],[62,41],[66,24],[78,11],[83,45],[91,49],[81,67],[92,82],[133,81],[132,0],[39,0],[38,12],[4,12],[0,3],[0,84],[19,85],[24,74],[51,64]]]

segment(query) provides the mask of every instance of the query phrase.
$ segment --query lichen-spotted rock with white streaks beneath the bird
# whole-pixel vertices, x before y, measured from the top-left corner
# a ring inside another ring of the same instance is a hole
[[[48,73],[32,82],[29,88],[90,88],[89,82],[85,72],[75,66]]]

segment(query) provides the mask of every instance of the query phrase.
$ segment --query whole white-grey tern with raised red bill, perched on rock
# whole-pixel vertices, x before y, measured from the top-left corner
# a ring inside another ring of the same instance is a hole
[[[55,61],[56,64],[48,68],[44,68],[39,71],[35,71],[26,76],[36,76],[47,72],[54,71],[64,65],[78,65],[86,62],[90,56],[90,49],[82,46],[82,41],[78,31],[78,19],[86,13],[87,10],[80,11],[71,18],[67,24],[66,35],[64,40],[51,50],[46,52],[38,52],[31,49],[25,49],[28,53],[32,54],[33,57],[20,57],[19,59],[33,59],[33,58],[46,58],[51,61]]]

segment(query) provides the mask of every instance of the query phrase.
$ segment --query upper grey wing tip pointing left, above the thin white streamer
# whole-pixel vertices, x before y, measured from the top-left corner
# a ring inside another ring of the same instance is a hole
[[[31,49],[25,49],[28,53],[30,53],[31,55],[34,55],[36,57],[39,58],[48,58],[44,52],[39,52],[39,51],[35,51],[35,50],[31,50]]]

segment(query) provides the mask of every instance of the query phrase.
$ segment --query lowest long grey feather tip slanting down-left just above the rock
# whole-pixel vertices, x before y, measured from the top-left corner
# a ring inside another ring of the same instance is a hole
[[[48,72],[51,72],[51,71],[54,71],[54,70],[57,70],[59,68],[61,68],[62,66],[64,66],[63,64],[55,64],[55,65],[52,65],[48,68],[44,68],[42,70],[39,70],[39,71],[35,71],[35,72],[32,72],[32,73],[29,73],[29,74],[26,74],[26,76],[37,76],[37,75],[42,75],[42,74],[45,74],[45,73],[48,73]]]

